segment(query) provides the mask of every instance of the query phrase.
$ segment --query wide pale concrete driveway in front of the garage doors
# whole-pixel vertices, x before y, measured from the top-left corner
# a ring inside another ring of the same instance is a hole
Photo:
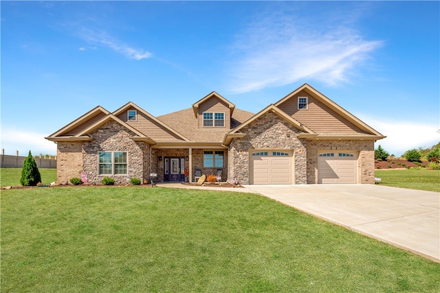
[[[440,262],[440,194],[380,185],[245,185],[318,218]]]

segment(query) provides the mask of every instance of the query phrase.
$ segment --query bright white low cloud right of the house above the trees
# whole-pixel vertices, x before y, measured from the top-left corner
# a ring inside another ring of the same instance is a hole
[[[357,116],[375,130],[386,135],[385,139],[375,143],[375,148],[377,148],[377,145],[382,145],[384,150],[395,156],[401,156],[401,154],[413,148],[430,148],[440,141],[440,133],[437,132],[439,125],[436,124],[398,120],[387,121],[363,115]]]

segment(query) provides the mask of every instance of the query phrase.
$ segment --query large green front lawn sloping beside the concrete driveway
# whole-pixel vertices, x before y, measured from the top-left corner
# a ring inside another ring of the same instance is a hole
[[[438,292],[440,263],[268,198],[1,191],[2,292]]]

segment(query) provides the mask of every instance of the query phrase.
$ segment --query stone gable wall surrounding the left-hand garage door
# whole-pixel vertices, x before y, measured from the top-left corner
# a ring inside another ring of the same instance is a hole
[[[270,112],[245,126],[242,139],[233,139],[229,150],[229,179],[249,184],[249,150],[294,150],[294,178],[296,184],[307,183],[307,152],[305,140],[298,139],[297,128]]]

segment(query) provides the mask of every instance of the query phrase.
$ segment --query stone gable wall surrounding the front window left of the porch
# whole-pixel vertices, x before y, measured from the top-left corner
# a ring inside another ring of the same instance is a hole
[[[148,178],[145,165],[150,163],[150,147],[142,141],[133,141],[135,134],[115,121],[109,121],[91,133],[93,141],[83,144],[83,166],[89,183],[101,183],[102,178],[111,177],[115,184],[130,183],[131,178]],[[127,152],[126,175],[98,175],[99,152]]]

